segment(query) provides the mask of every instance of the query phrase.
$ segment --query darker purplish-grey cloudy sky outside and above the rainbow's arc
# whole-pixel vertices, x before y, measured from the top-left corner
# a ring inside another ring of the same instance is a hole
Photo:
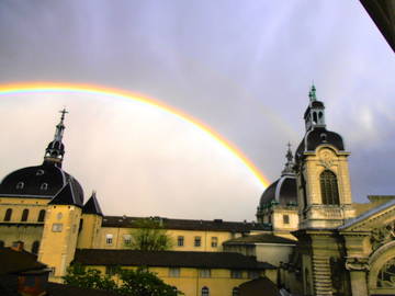
[[[1,81],[158,98],[213,126],[271,180],[285,144],[303,136],[314,80],[328,128],[353,152],[354,197],[395,193],[395,61],[357,1],[10,0],[0,38]]]

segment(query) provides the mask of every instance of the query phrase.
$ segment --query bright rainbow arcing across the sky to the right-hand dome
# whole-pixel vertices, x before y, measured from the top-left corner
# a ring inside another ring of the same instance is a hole
[[[143,94],[132,93],[124,90],[112,89],[108,87],[100,87],[94,84],[78,84],[78,83],[54,83],[54,82],[25,82],[25,83],[11,83],[11,84],[0,84],[0,95],[9,95],[15,93],[30,93],[30,92],[74,92],[74,93],[88,93],[88,94],[101,94],[111,98],[119,99],[128,99],[134,100],[144,104],[151,105],[154,107],[158,107],[161,111],[170,113],[184,122],[188,122],[214,140],[219,143],[222,147],[230,151],[236,158],[238,158],[244,166],[252,173],[252,175],[267,187],[270,182],[268,179],[260,172],[260,170],[252,163],[251,160],[247,158],[235,145],[233,145],[225,137],[219,135],[213,128],[207,126],[206,124],[200,122],[199,119],[192,117],[191,115],[177,110],[173,106],[169,106],[163,104],[162,102],[148,98]]]

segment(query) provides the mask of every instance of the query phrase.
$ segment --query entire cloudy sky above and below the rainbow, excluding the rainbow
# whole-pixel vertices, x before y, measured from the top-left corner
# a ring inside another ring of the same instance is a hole
[[[394,53],[359,1],[3,0],[0,82],[92,83],[199,118],[275,181],[312,81],[351,151],[353,200],[395,194]],[[0,96],[1,177],[40,164],[69,110],[64,168],[105,214],[255,218],[262,185],[194,126],[104,95]]]

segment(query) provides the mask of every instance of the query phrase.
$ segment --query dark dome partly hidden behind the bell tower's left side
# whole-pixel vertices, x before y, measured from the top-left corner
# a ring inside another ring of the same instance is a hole
[[[280,205],[297,204],[296,177],[284,174],[263,192],[259,206],[275,201]]]

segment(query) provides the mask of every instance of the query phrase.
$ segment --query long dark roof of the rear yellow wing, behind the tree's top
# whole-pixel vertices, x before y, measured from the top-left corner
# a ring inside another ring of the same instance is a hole
[[[244,221],[224,221],[222,219],[214,220],[190,220],[190,219],[169,219],[161,217],[145,217],[156,219],[165,229],[179,230],[212,230],[212,231],[233,231],[249,232],[251,230],[270,230],[271,228],[258,223]],[[126,217],[126,216],[105,216],[102,227],[127,227],[134,228],[135,221],[144,219],[144,217]]]

